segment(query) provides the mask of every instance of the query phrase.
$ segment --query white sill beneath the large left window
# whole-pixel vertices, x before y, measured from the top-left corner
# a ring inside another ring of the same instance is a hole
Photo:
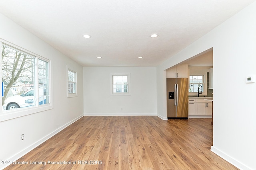
[[[19,108],[15,110],[3,110],[2,108],[2,112],[0,113],[1,114],[0,122],[53,109],[53,106],[50,104],[47,104],[45,106],[38,106],[38,107],[30,106],[30,107],[31,108],[26,107],[26,108]]]

